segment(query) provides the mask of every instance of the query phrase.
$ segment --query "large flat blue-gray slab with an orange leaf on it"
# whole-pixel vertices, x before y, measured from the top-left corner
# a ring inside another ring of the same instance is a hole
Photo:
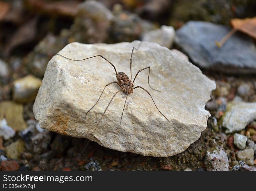
[[[230,27],[209,22],[190,21],[176,31],[175,42],[202,68],[232,74],[256,74],[256,47],[253,39],[236,32],[223,47],[221,40]]]

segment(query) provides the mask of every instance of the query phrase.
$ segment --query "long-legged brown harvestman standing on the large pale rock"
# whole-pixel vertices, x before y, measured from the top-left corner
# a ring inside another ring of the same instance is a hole
[[[137,50],[135,47],[132,48],[132,51],[131,51],[131,58],[130,58],[130,71],[131,71],[131,63],[132,63],[132,54],[133,54],[134,49]],[[55,54],[54,56],[56,56],[56,55],[62,56],[61,54]],[[111,66],[113,66],[113,68],[115,69],[115,66],[114,66],[108,59],[106,59],[106,58],[105,58],[104,56],[102,56],[102,55],[96,55],[96,56],[92,56],[92,57],[84,58],[84,59],[80,59],[80,60],[70,59],[70,58],[67,58],[67,57],[65,57],[65,56],[62,56],[62,57],[66,58],[66,59],[68,59],[68,60],[82,61],[82,60],[87,60],[87,59],[94,58],[94,57],[97,57],[97,56],[99,56],[99,57],[103,58],[104,60],[106,60],[106,61],[107,61],[109,64],[111,64]],[[116,69],[115,69],[115,74],[116,74],[116,79],[117,79],[117,81],[113,81],[113,82],[111,82],[111,83],[106,84],[105,87],[104,87],[104,89],[103,89],[103,91],[102,91],[102,93],[101,93],[100,96],[99,96],[99,99],[101,98],[101,96],[102,96],[102,94],[103,94],[105,88],[106,88],[108,85],[112,84],[112,83],[117,83],[117,84],[120,86],[121,90],[117,91],[117,92],[113,95],[113,97],[111,98],[111,100],[110,100],[108,106],[107,106],[106,109],[104,110],[104,113],[102,114],[102,116],[101,116],[99,122],[101,121],[103,115],[105,114],[106,110],[108,109],[108,107],[109,107],[111,101],[113,100],[113,98],[116,96],[116,94],[117,94],[118,92],[121,92],[121,91],[124,91],[124,92],[126,93],[126,99],[125,99],[125,104],[126,104],[126,100],[127,100],[128,94],[133,93],[133,90],[136,89],[136,88],[141,88],[141,89],[143,89],[145,92],[147,92],[147,94],[150,95],[150,97],[151,97],[151,99],[152,99],[154,105],[155,105],[156,108],[157,108],[157,105],[156,105],[156,103],[154,102],[153,97],[151,96],[151,94],[150,94],[145,88],[143,88],[143,87],[141,87],[141,86],[136,86],[136,87],[134,88],[134,85],[133,85],[133,83],[134,83],[134,81],[135,81],[135,79],[136,79],[138,73],[140,73],[141,71],[143,71],[143,70],[145,70],[145,69],[149,69],[149,71],[148,71],[147,83],[148,83],[149,87],[150,87],[152,90],[155,90],[155,89],[153,89],[153,88],[150,86],[150,84],[149,84],[150,66],[147,66],[147,67],[145,67],[145,68],[143,68],[143,69],[140,69],[140,70],[137,72],[137,74],[135,75],[135,77],[134,77],[134,79],[133,79],[132,82],[131,82],[131,79],[132,79],[132,78],[129,79],[129,77],[128,77],[124,72],[118,72],[118,73],[117,73],[117,71],[116,71]],[[160,92],[159,90],[155,90],[155,91]],[[96,103],[94,104],[94,106],[98,103],[99,99],[96,101]],[[91,109],[93,109],[94,106],[93,106],[92,108],[90,108],[90,109],[86,112],[85,118],[86,118],[86,116],[87,116],[87,113],[88,113]],[[123,108],[123,111],[122,111],[122,116],[121,116],[121,120],[120,120],[119,126],[121,125],[121,121],[122,121],[124,109],[125,109],[125,105],[124,105],[124,108]],[[157,110],[159,111],[159,113],[161,113],[161,111],[160,111],[158,108],[157,108]],[[163,114],[161,113],[161,115],[163,115]],[[163,115],[163,117],[165,117],[165,116]],[[166,118],[166,117],[165,117],[165,118]],[[167,118],[166,118],[166,119],[167,119]],[[169,121],[169,120],[167,119],[167,121]],[[99,122],[98,122],[97,126],[99,125]],[[96,128],[97,128],[97,126],[96,126]],[[94,131],[96,130],[96,128],[94,129]],[[94,132],[94,131],[93,131],[93,132]],[[90,142],[90,140],[88,140],[88,142],[87,142],[86,146],[84,147],[84,149],[87,147],[87,145],[88,145],[89,142]],[[83,149],[83,150],[84,150],[84,149]],[[83,152],[83,151],[82,151],[82,152]]]

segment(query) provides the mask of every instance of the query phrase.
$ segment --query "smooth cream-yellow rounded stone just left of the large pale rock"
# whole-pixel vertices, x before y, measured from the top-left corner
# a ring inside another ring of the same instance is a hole
[[[13,82],[13,99],[19,103],[34,101],[42,80],[27,75]]]

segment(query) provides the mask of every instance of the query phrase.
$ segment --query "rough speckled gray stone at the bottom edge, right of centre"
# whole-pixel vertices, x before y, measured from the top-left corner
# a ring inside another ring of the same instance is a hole
[[[207,151],[205,165],[207,170],[229,170],[227,153],[219,148]]]

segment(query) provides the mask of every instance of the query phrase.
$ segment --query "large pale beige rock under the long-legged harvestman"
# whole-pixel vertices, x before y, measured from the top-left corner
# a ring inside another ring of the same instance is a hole
[[[140,41],[118,44],[68,44],[59,54],[72,59],[82,59],[102,54],[117,71],[130,76],[132,47]],[[142,42],[133,54],[133,77],[139,69],[134,85],[146,88],[154,98],[138,88],[127,98],[122,124],[119,126],[126,94],[120,92],[111,102],[97,126],[113,94],[120,90],[117,84],[106,89],[95,104],[107,83],[116,81],[115,71],[106,60],[96,57],[84,61],[71,61],[54,56],[48,63],[42,85],[35,99],[33,111],[41,128],[73,137],[93,140],[104,147],[149,156],[172,156],[184,151],[200,137],[210,116],[205,103],[216,85],[200,69],[180,59],[166,47],[152,42]]]

